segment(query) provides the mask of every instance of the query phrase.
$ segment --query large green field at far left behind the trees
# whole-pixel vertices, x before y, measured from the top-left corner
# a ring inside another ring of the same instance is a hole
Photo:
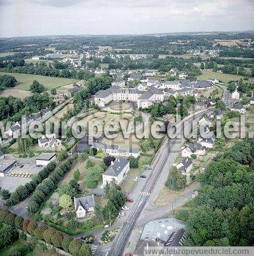
[[[29,91],[30,85],[34,80],[37,80],[39,83],[42,83],[46,89],[51,90],[53,88],[61,87],[63,85],[68,85],[70,83],[75,83],[77,79],[67,79],[61,77],[46,77],[44,75],[28,75],[28,74],[19,74],[19,73],[5,73],[0,72],[0,75],[13,75],[18,81],[15,89],[20,89],[23,91]]]

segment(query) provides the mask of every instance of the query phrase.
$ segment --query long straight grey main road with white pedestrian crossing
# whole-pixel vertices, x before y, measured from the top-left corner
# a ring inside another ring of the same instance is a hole
[[[208,111],[209,110],[199,112],[199,114],[195,114],[194,116],[188,117],[186,121],[191,122],[191,120],[199,118],[202,114],[204,114],[204,112]],[[180,128],[179,125],[178,128]],[[181,125],[181,128],[178,130],[178,133],[181,134],[183,130],[183,124]],[[134,203],[131,213],[129,214],[129,217],[123,223],[117,236],[115,237],[115,240],[113,241],[113,244],[111,246],[111,250],[108,253],[109,255],[121,255],[123,253],[123,249],[125,248],[129,235],[131,234],[131,231],[133,230],[135,223],[137,222],[137,219],[143,213],[143,210],[148,202],[148,196],[152,194],[154,186],[156,185],[156,181],[158,180],[158,177],[160,176],[160,173],[166,163],[166,160],[170,155],[170,151],[174,144],[177,142],[177,140],[178,139],[176,138],[170,139],[168,138],[168,136],[166,137],[166,140],[162,144],[162,147],[159,149],[160,153],[158,153],[152,165],[153,171],[150,173],[150,176],[146,179],[146,183],[144,184],[143,190],[139,195],[138,200]],[[96,253],[96,255],[98,255],[98,253]]]

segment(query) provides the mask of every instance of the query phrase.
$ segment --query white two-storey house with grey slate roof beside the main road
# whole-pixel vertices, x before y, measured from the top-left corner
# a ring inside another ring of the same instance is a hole
[[[129,170],[129,160],[123,157],[115,159],[115,161],[111,162],[110,167],[102,174],[102,187],[105,187],[106,183],[110,183],[111,181],[115,181],[115,183],[119,185],[125,175],[129,173]]]

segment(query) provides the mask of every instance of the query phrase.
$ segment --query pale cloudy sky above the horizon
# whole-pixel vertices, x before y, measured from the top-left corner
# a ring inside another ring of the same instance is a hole
[[[254,0],[0,0],[0,37],[254,30]]]

